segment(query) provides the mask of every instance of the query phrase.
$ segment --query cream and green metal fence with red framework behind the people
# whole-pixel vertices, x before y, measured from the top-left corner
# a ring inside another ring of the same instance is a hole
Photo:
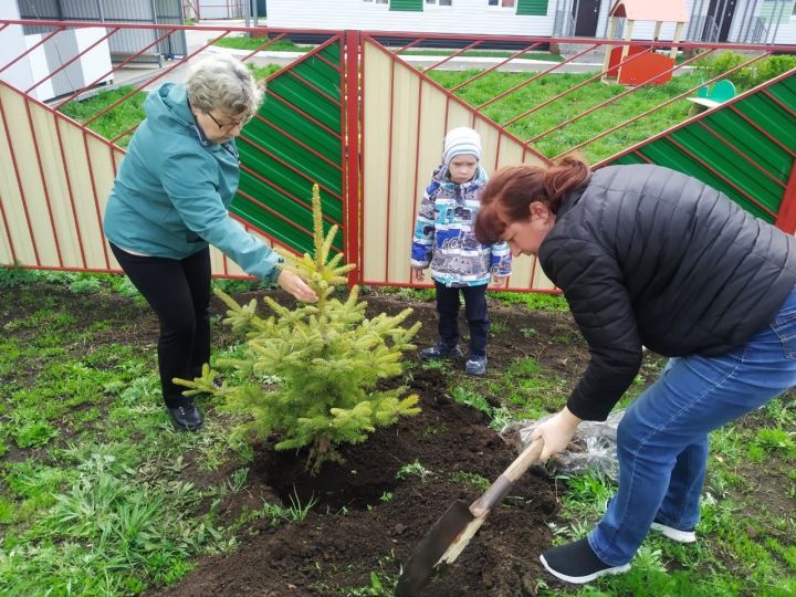
[[[94,73],[96,76],[82,88],[45,104],[32,95],[32,90],[56,73],[23,72],[25,62],[32,62],[41,48],[18,43],[20,50],[14,54],[2,54],[1,49],[19,41],[23,25],[49,28],[51,39],[75,29],[96,32],[98,41],[75,56],[62,56],[62,67],[88,52],[97,52],[103,40],[111,42],[116,35],[140,35],[142,41],[124,59],[108,60],[108,70]],[[143,73],[136,66],[130,75],[130,65],[175,34],[193,40],[187,44],[184,59],[153,65]],[[235,51],[216,43],[241,34],[251,34],[255,46]],[[197,36],[201,41],[196,42]],[[597,167],[611,161],[664,164],[721,188],[784,230],[796,231],[796,71],[650,135],[628,129],[654,109],[683,104],[688,109],[687,96],[695,95],[700,84],[731,75],[743,65],[702,81],[660,106],[639,108],[637,116],[616,123],[610,117],[612,106],[635,97],[651,82],[610,92],[591,106],[573,101],[572,93],[605,75],[598,69],[583,75],[577,84],[541,95],[527,107],[514,102],[519,112],[504,113],[502,103],[517,95],[523,97],[532,85],[544,87],[544,82],[558,73],[578,72],[580,56],[628,42],[559,39],[556,41],[562,44],[579,44],[583,50],[559,62],[537,65],[528,56],[544,49],[548,39],[20,20],[0,21],[0,168],[4,175],[0,177],[0,263],[118,271],[102,235],[102,213],[124,146],[135,127],[114,132],[109,138],[92,129],[112,121],[122,104],[135,102],[163,81],[179,80],[185,65],[197,56],[232,52],[254,69],[263,69],[276,60],[264,52],[289,38],[311,40],[315,45],[290,56],[287,64],[266,77],[262,108],[238,142],[241,184],[232,217],[270,244],[300,253],[308,251],[310,191],[317,182],[324,226],[328,229],[336,224],[342,231],[334,251],[344,252],[348,262],[358,264],[350,274],[352,283],[413,285],[409,248],[419,199],[440,160],[446,130],[460,125],[481,134],[482,163],[488,171],[507,164],[544,163],[570,150],[588,150],[589,144],[606,136],[620,135],[622,150],[593,159]],[[628,62],[666,46],[666,42],[630,43],[643,48],[629,53]],[[476,56],[476,62],[468,64],[480,66],[461,72],[454,82],[443,85],[434,78],[436,72],[447,69],[461,71],[458,61],[468,59],[472,51],[496,46],[503,52],[500,57],[482,64],[478,61],[488,59]],[[690,46],[704,53],[722,48]],[[410,51],[421,48],[449,50],[431,56],[428,51],[420,55]],[[757,54],[744,64],[771,53],[768,46],[754,49]],[[689,57],[672,70],[684,69],[693,60]],[[465,101],[468,88],[478,91],[490,73],[510,67],[516,72],[532,67],[533,73],[515,75],[516,84],[491,95],[480,97],[480,97],[475,103]],[[87,118],[76,122],[59,111],[71,100],[107,88],[122,90],[116,92],[118,100]],[[554,124],[534,128],[546,112],[553,112]],[[577,128],[584,122],[588,123],[580,127],[588,130],[585,136]],[[549,139],[553,142],[547,143]],[[546,154],[543,147],[547,147]],[[552,153],[549,147],[554,148]],[[218,251],[213,251],[212,260],[216,275],[244,275]],[[532,258],[515,261],[509,289],[555,292]]]

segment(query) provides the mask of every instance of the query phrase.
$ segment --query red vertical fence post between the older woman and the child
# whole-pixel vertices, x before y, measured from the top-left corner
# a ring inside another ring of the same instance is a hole
[[[343,150],[345,160],[345,254],[346,261],[356,263],[356,269],[348,274],[348,285],[358,284],[363,280],[363,255],[359,239],[362,234],[362,168],[359,123],[359,53],[362,38],[358,31],[346,31],[343,35],[343,113],[345,124],[343,132]]]

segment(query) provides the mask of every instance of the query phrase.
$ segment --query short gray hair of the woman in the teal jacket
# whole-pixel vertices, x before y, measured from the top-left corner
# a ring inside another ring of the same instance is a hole
[[[256,114],[263,91],[239,60],[224,54],[202,59],[188,74],[186,92],[191,105],[202,112]]]

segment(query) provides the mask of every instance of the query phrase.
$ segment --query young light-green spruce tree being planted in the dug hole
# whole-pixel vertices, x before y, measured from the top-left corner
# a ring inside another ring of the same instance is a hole
[[[318,302],[290,310],[266,296],[264,302],[274,315],[262,318],[254,300],[241,306],[216,290],[229,306],[224,323],[248,338],[240,358],[216,363],[220,370],[237,374],[224,375],[218,387],[218,373],[206,365],[193,381],[176,381],[190,388],[187,396],[221,396],[226,410],[250,415],[235,429],[238,433],[258,439],[275,433],[281,450],[310,446],[307,468],[317,473],[324,462],[342,461],[337,444],[364,441],[377,426],[420,411],[417,395],[401,398],[406,387],[377,388],[380,379],[401,373],[401,354],[415,348],[410,341],[420,324],[401,326],[411,308],[392,317],[383,313],[367,318],[366,304],[357,302],[357,286],[345,302],[333,298],[336,286],[346,283],[345,274],[356,265],[341,265],[343,253],[329,259],[337,227],[324,238],[317,185],[313,187],[313,219],[314,256],[277,252],[284,259],[282,268],[304,277]]]

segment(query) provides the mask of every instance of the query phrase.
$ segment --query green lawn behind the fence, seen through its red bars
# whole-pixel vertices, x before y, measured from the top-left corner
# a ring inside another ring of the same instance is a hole
[[[226,48],[254,50],[263,42],[263,39],[234,36],[226,38],[217,43]],[[279,40],[274,44],[274,50],[306,51],[307,46]],[[439,54],[439,51],[411,49],[406,53]],[[501,52],[473,50],[467,53],[467,55],[498,54]],[[505,54],[511,55],[511,52]],[[555,60],[557,56],[557,54],[549,53],[532,54],[533,56],[528,54],[525,57],[543,60],[552,57]],[[694,95],[695,92],[691,93],[690,90],[699,87],[708,78],[721,75],[722,72],[740,64],[743,60],[744,57],[739,54],[725,52],[715,60],[703,61],[701,70],[679,74],[663,85],[639,90],[631,90],[618,84],[605,84],[599,80],[586,83],[596,73],[556,73],[526,84],[536,73],[491,72],[453,93],[467,104],[480,108],[484,116],[505,126],[517,138],[530,143],[533,148],[547,157],[552,158],[577,149],[590,164],[596,164],[682,123],[693,108],[693,104],[687,97]],[[746,67],[739,71],[733,78],[736,81],[739,92],[742,92],[785,72],[795,63],[796,59],[793,56],[771,56],[761,61],[755,70]],[[265,66],[250,64],[250,67],[258,80],[263,80],[280,69],[275,64]],[[429,71],[426,74],[441,86],[453,90],[480,72],[479,70]],[[574,87],[578,88],[567,93]],[[83,123],[129,91],[129,87],[122,87],[101,93],[85,102],[70,102],[61,111]],[[496,97],[509,91],[511,93],[495,101]],[[618,97],[620,95],[621,97]],[[654,109],[681,95],[683,95],[682,98],[661,109]],[[143,94],[135,94],[127,102],[92,123],[90,128],[106,138],[116,137],[142,121],[144,117],[140,109],[143,101]],[[604,103],[608,104],[597,107]],[[591,108],[595,111],[590,114],[569,123],[572,118]],[[651,112],[653,109],[654,112]],[[648,112],[651,114],[647,114]],[[619,127],[622,124],[625,126]],[[608,133],[616,127],[619,128]],[[603,136],[604,134],[605,136]],[[599,138],[588,143],[595,137]],[[118,143],[123,147],[126,146],[129,143],[129,136],[122,138]]]

